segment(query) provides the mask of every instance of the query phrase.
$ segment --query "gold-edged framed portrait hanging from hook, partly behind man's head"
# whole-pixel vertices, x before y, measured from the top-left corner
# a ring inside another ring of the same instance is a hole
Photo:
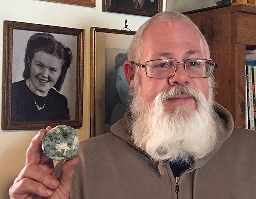
[[[91,128],[90,137],[109,132],[131,101],[123,63],[136,32],[91,28]]]

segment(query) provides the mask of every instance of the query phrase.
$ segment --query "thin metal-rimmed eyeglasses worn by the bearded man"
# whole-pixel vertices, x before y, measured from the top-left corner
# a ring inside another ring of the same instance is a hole
[[[209,78],[213,69],[218,65],[207,59],[187,59],[186,61],[177,61],[176,59],[156,59],[146,61],[145,65],[140,63],[131,63],[145,68],[146,75],[149,78],[170,78],[175,75],[177,63],[184,63],[186,74],[190,78]]]

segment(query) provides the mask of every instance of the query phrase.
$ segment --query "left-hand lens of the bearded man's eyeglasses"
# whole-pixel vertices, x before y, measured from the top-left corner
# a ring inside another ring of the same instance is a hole
[[[151,78],[167,78],[175,73],[176,60],[159,59],[145,63],[146,73]]]

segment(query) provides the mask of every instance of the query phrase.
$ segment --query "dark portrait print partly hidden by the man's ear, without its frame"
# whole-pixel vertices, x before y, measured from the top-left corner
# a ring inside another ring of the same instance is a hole
[[[105,49],[105,124],[114,124],[129,109],[131,100],[123,63],[128,60],[128,49]]]

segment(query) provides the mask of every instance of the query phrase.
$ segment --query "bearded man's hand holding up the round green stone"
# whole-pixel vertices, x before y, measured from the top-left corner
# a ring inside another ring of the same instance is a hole
[[[61,175],[56,178],[52,159],[47,158],[41,149],[42,139],[51,128],[41,129],[32,139],[26,152],[26,166],[9,189],[11,199],[69,198],[74,167],[79,158],[64,162]]]

